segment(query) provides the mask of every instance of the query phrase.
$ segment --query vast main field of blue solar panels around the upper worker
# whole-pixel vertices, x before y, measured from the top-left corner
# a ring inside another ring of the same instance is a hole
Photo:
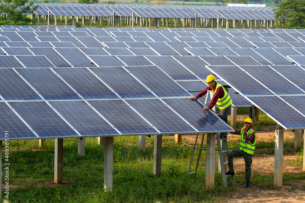
[[[0,128],[15,139],[230,131],[188,100],[212,72],[233,88],[233,106],[253,103],[284,128],[305,128],[302,30],[0,29]]]

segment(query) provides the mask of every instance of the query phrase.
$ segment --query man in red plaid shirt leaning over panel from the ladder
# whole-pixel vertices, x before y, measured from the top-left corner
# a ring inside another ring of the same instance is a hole
[[[217,107],[219,108],[219,118],[228,124],[228,112],[231,107],[232,100],[224,87],[215,80],[216,78],[214,75],[208,75],[205,81],[208,83],[208,87],[197,94],[197,96],[190,97],[190,100],[196,100],[205,95],[208,90],[212,90],[213,98],[207,107],[203,107],[203,110],[210,110],[215,106],[215,104],[217,104]],[[227,132],[222,132],[219,136],[221,139],[226,139],[227,135]]]

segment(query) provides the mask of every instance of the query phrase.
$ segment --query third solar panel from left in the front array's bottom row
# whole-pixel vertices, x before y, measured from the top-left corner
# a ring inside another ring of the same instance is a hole
[[[82,136],[120,135],[85,101],[50,101],[49,103]]]

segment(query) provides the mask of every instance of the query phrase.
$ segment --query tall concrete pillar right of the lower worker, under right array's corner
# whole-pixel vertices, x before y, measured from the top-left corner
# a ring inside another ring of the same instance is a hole
[[[275,130],[274,186],[282,186],[284,130]]]

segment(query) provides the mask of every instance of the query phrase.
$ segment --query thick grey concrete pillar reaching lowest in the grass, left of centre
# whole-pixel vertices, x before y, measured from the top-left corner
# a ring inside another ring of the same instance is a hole
[[[105,137],[104,149],[104,190],[112,192],[113,137]]]

